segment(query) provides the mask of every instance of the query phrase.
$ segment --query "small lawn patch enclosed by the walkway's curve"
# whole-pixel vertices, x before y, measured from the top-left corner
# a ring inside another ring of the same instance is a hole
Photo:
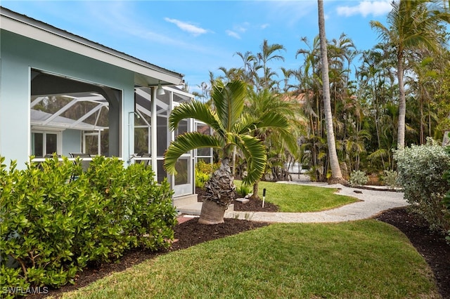
[[[236,187],[242,181],[235,180]],[[265,201],[276,204],[280,212],[316,212],[338,208],[345,204],[352,204],[359,199],[335,194],[336,188],[323,188],[295,184],[281,184],[277,182],[259,182],[259,197],[266,189]]]

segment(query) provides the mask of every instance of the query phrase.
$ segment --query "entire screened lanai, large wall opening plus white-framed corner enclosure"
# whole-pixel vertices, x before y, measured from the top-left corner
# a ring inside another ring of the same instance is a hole
[[[89,89],[93,88],[87,88],[84,92],[40,92],[31,96],[30,144],[34,161],[41,161],[53,153],[66,157],[74,157],[74,153],[75,156],[81,154],[86,161],[96,155],[111,156],[110,135],[118,134],[110,132],[110,102],[101,93]],[[134,142],[127,140],[131,154],[123,159],[128,164],[155,163],[158,181],[167,177],[176,195],[192,194],[195,188],[195,162],[198,159],[211,162],[212,150],[202,149],[184,154],[176,166],[178,173],[169,176],[163,168],[164,153],[177,135],[195,130],[209,133],[210,129],[202,123],[186,119],[181,121],[176,131],[169,131],[167,121],[170,112],[182,102],[193,100],[193,95],[176,86],[164,86],[153,102],[152,93],[153,88],[136,86],[134,89],[135,109],[125,117],[128,136],[134,138]],[[155,114],[152,114],[153,110]],[[153,126],[155,131],[152,130]]]

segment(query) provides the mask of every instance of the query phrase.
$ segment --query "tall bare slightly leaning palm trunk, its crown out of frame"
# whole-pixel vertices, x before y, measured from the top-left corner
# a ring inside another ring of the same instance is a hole
[[[333,129],[333,115],[331,114],[330,79],[328,78],[327,43],[325,34],[325,18],[323,15],[323,0],[317,0],[319,8],[319,38],[321,42],[323,109],[325,112],[328,155],[331,168],[330,184],[345,182],[340,171],[338,153],[336,152],[335,133]]]

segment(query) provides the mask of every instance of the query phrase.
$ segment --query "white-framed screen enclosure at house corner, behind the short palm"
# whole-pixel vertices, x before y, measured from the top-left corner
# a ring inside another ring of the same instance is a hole
[[[185,119],[181,121],[174,132],[169,131],[167,121],[170,112],[182,102],[193,100],[193,95],[177,87],[165,86],[163,90],[164,94],[157,95],[157,100],[153,103],[150,100],[150,88],[135,88],[136,113],[132,114],[134,118],[134,156],[132,159],[140,163],[148,163],[151,157],[156,157],[158,181],[167,176],[162,166],[164,153],[177,135],[188,131],[210,133],[209,127],[193,119]],[[155,124],[152,123],[152,105],[155,105]],[[156,127],[156,132],[151,129],[152,126]],[[190,194],[195,190],[193,168],[199,159],[212,162],[212,150],[194,150],[180,157],[176,165],[177,174],[168,177],[176,194]]]

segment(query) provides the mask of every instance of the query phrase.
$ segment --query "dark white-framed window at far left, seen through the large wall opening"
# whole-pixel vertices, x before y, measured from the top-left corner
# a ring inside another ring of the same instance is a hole
[[[45,157],[46,154],[60,154],[60,132],[33,131],[32,132],[32,155],[34,157]]]

